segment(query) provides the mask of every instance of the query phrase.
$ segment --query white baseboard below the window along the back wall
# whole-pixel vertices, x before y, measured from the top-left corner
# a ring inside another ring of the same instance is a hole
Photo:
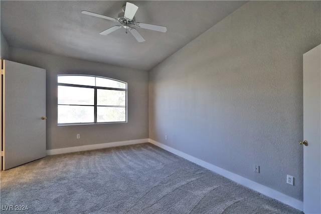
[[[76,151],[87,151],[87,150],[93,150],[93,149],[102,149],[102,148],[125,146],[125,145],[132,145],[132,144],[138,144],[138,143],[147,143],[147,142],[148,142],[148,139],[139,139],[139,140],[111,142],[111,143],[99,143],[99,144],[85,145],[85,146],[74,146],[74,147],[67,147],[67,148],[61,148],[61,149],[49,149],[47,150],[47,155],[63,154],[63,153],[76,152]]]

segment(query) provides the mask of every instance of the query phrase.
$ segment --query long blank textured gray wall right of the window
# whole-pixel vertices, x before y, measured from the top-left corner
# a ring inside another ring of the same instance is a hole
[[[149,138],[302,200],[302,55],[321,43],[320,11],[249,2],[156,66]]]

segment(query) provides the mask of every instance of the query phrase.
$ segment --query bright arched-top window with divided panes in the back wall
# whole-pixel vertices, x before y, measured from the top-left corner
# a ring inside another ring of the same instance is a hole
[[[127,122],[127,83],[58,75],[58,125]]]

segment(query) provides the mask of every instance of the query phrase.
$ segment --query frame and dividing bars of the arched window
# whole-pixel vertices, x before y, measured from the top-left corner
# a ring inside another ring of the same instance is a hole
[[[101,86],[90,86],[90,85],[77,85],[77,84],[69,84],[69,83],[58,83],[58,77],[60,76],[84,76],[84,77],[97,77],[97,78],[103,78],[108,79],[120,83],[125,84],[125,88],[111,88],[111,87],[101,87]],[[82,123],[58,123],[58,126],[61,125],[87,125],[87,124],[110,124],[110,123],[127,123],[127,83],[108,78],[108,77],[102,77],[102,76],[94,76],[94,75],[83,75],[83,74],[63,74],[63,75],[57,75],[57,91],[58,86],[70,86],[70,87],[78,87],[78,88],[93,88],[94,89],[94,105],[74,105],[74,104],[58,104],[59,97],[57,96],[57,107],[59,105],[72,105],[72,106],[93,106],[94,107],[94,122],[82,122]],[[110,106],[110,105],[97,105],[97,89],[104,89],[104,90],[113,90],[113,91],[125,91],[125,106]],[[58,94],[58,93],[57,93]],[[97,122],[97,106],[100,107],[125,107],[125,121],[112,121],[112,122]],[[58,108],[57,108],[58,110]],[[58,115],[57,115],[58,116]],[[58,117],[57,117],[58,122]]]

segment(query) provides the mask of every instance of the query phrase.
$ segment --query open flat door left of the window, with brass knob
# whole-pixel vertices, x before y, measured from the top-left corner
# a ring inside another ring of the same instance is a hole
[[[4,60],[3,80],[7,170],[46,156],[46,70]]]

